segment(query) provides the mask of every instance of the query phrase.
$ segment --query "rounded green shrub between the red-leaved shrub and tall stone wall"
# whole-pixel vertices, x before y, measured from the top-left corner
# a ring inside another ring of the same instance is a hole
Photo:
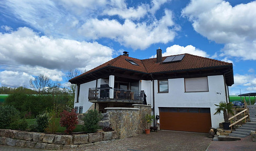
[[[100,128],[98,123],[102,119],[101,113],[97,110],[89,110],[88,113],[84,113],[83,115],[83,131],[86,133],[96,132]]]

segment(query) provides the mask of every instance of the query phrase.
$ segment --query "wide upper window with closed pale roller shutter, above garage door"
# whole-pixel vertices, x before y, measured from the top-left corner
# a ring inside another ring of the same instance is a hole
[[[185,79],[185,92],[206,92],[206,91],[209,91],[207,77]]]

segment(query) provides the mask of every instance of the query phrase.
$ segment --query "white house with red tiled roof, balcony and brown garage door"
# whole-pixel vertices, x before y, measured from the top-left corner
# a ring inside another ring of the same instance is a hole
[[[124,54],[69,80],[77,84],[74,106],[106,112],[105,107],[132,107],[146,102],[159,115],[162,130],[208,132],[219,127],[213,115],[220,101],[229,101],[234,83],[232,63],[188,53],[136,59]],[[144,95],[145,93],[145,95]]]

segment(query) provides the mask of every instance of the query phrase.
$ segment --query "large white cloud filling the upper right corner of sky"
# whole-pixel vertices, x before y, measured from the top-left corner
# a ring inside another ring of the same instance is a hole
[[[202,36],[225,44],[222,56],[256,60],[255,9],[255,1],[232,7],[222,0],[193,0],[182,10],[182,16],[188,17]]]

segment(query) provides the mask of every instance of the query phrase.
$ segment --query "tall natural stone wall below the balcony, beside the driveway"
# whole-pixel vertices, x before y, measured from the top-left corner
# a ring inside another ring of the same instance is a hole
[[[113,130],[118,131],[118,138],[128,138],[144,132],[144,117],[151,114],[150,105],[134,104],[134,108],[107,107],[109,121]]]

